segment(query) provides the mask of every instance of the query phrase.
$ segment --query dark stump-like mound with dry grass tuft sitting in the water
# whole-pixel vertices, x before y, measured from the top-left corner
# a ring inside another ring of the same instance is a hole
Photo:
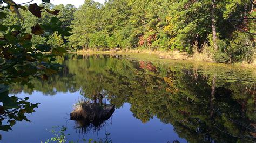
[[[83,103],[77,106],[71,113],[71,120],[105,121],[114,113],[114,105]]]

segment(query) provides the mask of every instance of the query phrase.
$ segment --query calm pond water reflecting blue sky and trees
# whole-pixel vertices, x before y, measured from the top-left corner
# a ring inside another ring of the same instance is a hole
[[[67,140],[112,142],[255,141],[256,71],[238,66],[160,60],[154,55],[77,55],[57,59],[62,71],[48,80],[19,83],[9,95],[39,103],[1,142],[40,142],[53,126],[67,127]],[[115,105],[100,124],[70,120],[80,99],[103,96]]]

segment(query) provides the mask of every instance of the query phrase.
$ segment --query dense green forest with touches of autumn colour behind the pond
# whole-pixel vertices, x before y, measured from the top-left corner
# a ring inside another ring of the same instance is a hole
[[[41,6],[60,10],[56,16],[70,36],[51,38],[52,47],[79,49],[149,49],[201,53],[217,62],[255,62],[255,1],[253,0],[109,0],[104,4],[85,0],[79,8],[68,5]],[[28,5],[26,5],[28,7]],[[37,19],[19,9],[21,20],[4,9],[3,25],[20,25],[31,31],[36,23],[50,22],[42,12]],[[44,37],[33,36],[39,44]]]

